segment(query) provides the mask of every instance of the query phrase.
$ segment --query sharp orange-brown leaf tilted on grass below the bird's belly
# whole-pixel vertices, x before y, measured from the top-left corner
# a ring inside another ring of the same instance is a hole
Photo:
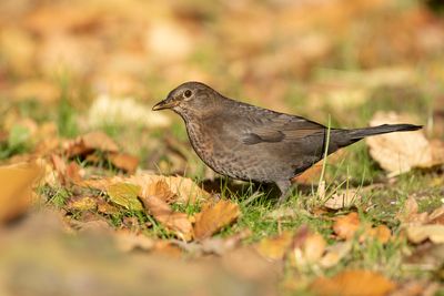
[[[195,238],[201,241],[210,237],[233,223],[240,214],[239,205],[230,201],[221,200],[214,205],[204,207],[201,213],[195,215]]]

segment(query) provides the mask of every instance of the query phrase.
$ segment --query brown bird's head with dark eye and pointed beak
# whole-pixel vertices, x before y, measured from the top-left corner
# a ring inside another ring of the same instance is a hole
[[[167,99],[157,103],[152,110],[171,109],[181,115],[199,114],[209,110],[218,96],[218,92],[201,82],[185,82],[172,90]]]

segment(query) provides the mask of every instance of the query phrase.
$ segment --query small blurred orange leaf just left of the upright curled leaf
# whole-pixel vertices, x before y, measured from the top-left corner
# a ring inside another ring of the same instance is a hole
[[[281,261],[285,256],[293,241],[291,232],[283,232],[274,237],[265,237],[259,242],[256,249],[259,254],[272,261]]]

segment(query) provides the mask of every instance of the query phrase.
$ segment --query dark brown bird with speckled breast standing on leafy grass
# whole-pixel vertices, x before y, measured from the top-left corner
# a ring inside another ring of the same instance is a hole
[[[322,160],[329,129],[320,123],[223,96],[200,82],[172,90],[153,111],[171,109],[182,116],[201,160],[232,178],[275,183],[285,201],[291,178]],[[412,124],[331,129],[327,154],[365,136],[415,131]]]

